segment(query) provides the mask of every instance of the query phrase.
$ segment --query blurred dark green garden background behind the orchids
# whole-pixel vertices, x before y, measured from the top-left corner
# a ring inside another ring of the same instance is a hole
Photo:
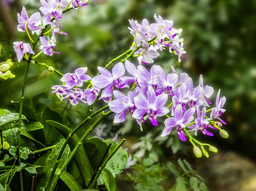
[[[0,62],[9,58],[17,62],[13,41],[29,41],[24,33],[17,32],[17,12],[25,6],[31,15],[41,4],[36,0],[0,2]],[[171,71],[171,66],[178,72],[187,72],[194,84],[203,74],[204,85],[214,87],[215,95],[221,88],[221,96],[227,98],[223,118],[227,122],[224,128],[229,132],[229,139],[223,139],[219,134],[210,139],[199,136],[201,141],[217,146],[219,152],[211,153],[210,159],[196,159],[192,146],[178,141],[175,134],[160,139],[161,128],[164,128],[161,125],[156,129],[146,124],[140,132],[131,118],[118,125],[110,119],[104,122],[107,128],[102,136],[113,138],[118,132],[118,138],[127,139],[125,146],[129,153],[151,156],[159,162],[175,163],[178,157],[187,159],[208,181],[210,190],[256,190],[256,1],[108,0],[90,4],[63,15],[61,29],[68,32],[68,36],[58,35],[55,46],[55,51],[61,54],[41,56],[38,61],[56,67],[62,73],[87,66],[93,76],[97,66],[104,66],[131,46],[128,20],[133,18],[141,22],[147,18],[154,21],[154,13],[173,20],[175,28],[183,29],[187,51],[181,63],[168,52],[162,52],[155,63],[163,66],[166,72]],[[136,60],[132,61],[136,63]],[[20,62],[12,69],[15,78],[0,81],[0,108],[15,110],[10,101],[19,100],[24,69],[25,62]],[[38,116],[46,106],[62,113],[67,102],[61,103],[50,93],[51,87],[59,83],[59,76],[44,67],[32,65],[25,103],[31,105]],[[64,112],[66,124],[78,124],[86,109],[87,106],[82,104],[69,105]],[[120,180],[120,183],[124,190],[125,181]],[[127,190],[131,189],[127,185]]]

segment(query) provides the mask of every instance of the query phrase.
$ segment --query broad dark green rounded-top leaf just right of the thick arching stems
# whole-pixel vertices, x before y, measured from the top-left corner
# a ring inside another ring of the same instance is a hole
[[[106,152],[108,145],[99,138],[89,138],[85,143],[83,143],[83,147],[87,151],[87,157],[90,160],[92,169],[95,171],[103,159],[103,155]],[[108,157],[108,154],[106,157]]]

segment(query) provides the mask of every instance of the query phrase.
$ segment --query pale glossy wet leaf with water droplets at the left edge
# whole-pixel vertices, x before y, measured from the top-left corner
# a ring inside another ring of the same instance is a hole
[[[4,131],[6,129],[16,128],[18,125],[18,113],[8,113],[0,117],[0,130]],[[22,115],[22,120],[27,120],[24,115]]]

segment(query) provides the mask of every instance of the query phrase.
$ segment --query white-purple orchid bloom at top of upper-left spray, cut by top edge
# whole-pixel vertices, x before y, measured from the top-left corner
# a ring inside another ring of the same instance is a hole
[[[52,18],[61,18],[62,9],[59,0],[40,0],[41,6],[39,10],[45,15],[43,17],[43,25],[50,24]]]

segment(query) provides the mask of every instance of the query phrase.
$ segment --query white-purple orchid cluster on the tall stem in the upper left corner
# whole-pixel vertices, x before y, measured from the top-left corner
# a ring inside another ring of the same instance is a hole
[[[72,0],[70,2],[68,0],[40,0],[40,2],[42,6],[39,8],[39,10],[44,15],[43,18],[41,18],[41,14],[39,12],[33,13],[29,18],[29,16],[27,15],[27,11],[25,10],[25,7],[23,7],[21,13],[17,13],[17,29],[18,31],[21,32],[27,32],[32,43],[34,43],[34,41],[29,35],[28,29],[30,31],[39,31],[38,34],[39,39],[41,41],[40,48],[42,52],[46,55],[52,56],[53,53],[60,53],[53,51],[56,41],[56,33],[68,35],[66,32],[60,31],[59,20],[60,18],[62,18],[62,13],[69,8],[69,4],[71,4],[73,8],[85,6],[86,4],[83,0]],[[41,21],[43,21],[44,27],[40,26]],[[45,29],[46,27],[48,27],[48,25],[51,25],[52,28],[48,32],[45,32]],[[52,39],[49,38],[49,32],[52,32]],[[48,35],[48,37],[46,35]],[[22,41],[19,41],[14,42],[13,45],[13,48],[17,53],[18,62],[20,62],[24,55],[26,56],[26,59],[28,59],[26,53],[34,54],[29,43],[23,43]]]

